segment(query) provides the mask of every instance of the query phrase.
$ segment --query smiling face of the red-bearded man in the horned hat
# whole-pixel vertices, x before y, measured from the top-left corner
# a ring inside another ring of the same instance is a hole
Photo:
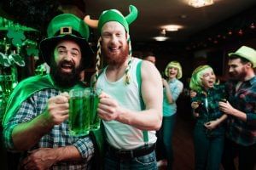
[[[127,34],[119,22],[110,21],[102,26],[102,54],[108,65],[122,65],[128,58]]]

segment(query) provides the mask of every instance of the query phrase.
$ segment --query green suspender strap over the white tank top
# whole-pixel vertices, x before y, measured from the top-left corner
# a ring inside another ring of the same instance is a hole
[[[140,105],[142,110],[145,109],[145,104],[143,101],[143,95],[142,95],[142,63],[143,60],[140,60],[137,64],[136,68],[136,77],[137,77],[137,84],[138,84],[138,89],[139,89],[139,94],[140,94]],[[143,130],[143,141],[145,144],[148,144],[148,131]]]

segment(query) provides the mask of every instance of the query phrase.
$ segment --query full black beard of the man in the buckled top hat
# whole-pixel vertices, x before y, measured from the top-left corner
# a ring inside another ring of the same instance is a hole
[[[53,77],[55,80],[55,84],[58,87],[61,88],[71,88],[75,84],[77,84],[80,80],[80,73],[82,71],[82,65],[80,64],[77,68],[73,65],[73,63],[61,60],[58,65],[55,64],[55,62],[52,62],[50,66],[50,72],[49,74]],[[61,71],[61,65],[69,63],[72,65],[72,71],[70,73]]]

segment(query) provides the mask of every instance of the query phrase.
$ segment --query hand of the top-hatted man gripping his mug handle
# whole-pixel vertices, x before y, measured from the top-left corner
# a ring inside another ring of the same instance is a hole
[[[68,99],[67,92],[54,96],[48,100],[45,117],[47,122],[53,125],[59,125],[68,118]]]

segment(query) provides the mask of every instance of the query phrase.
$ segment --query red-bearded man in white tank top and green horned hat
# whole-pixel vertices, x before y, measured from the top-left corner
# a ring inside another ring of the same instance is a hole
[[[130,11],[124,17],[109,9],[99,21],[84,17],[89,26],[98,28],[97,59],[102,54],[107,63],[94,80],[96,88],[105,93],[98,107],[107,140],[104,166],[109,170],[152,170],[157,169],[155,130],[162,121],[163,88],[152,63],[131,57],[129,24],[136,20],[137,8],[131,5]]]

